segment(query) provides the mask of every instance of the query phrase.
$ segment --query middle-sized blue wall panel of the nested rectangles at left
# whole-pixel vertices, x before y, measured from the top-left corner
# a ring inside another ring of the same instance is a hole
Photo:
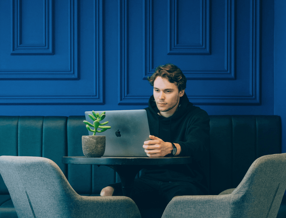
[[[7,9],[4,11],[8,15]],[[54,4],[52,0],[12,0],[11,36],[7,24],[2,28],[5,33],[2,37],[11,38],[12,51],[9,52],[5,44],[3,54],[6,55],[0,60],[5,64],[0,65],[0,79],[79,79],[77,24],[77,0]]]

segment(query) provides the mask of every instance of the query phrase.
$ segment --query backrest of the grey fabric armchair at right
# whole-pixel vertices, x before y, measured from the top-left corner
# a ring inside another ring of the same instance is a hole
[[[231,217],[275,218],[285,189],[286,153],[256,159],[231,194]]]

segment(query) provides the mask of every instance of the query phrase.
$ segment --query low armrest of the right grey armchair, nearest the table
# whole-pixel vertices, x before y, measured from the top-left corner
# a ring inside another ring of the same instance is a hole
[[[178,196],[167,205],[162,218],[227,218],[233,197],[232,194]]]

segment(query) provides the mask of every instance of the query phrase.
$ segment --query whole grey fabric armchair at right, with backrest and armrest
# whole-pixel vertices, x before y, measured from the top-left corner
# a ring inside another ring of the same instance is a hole
[[[252,163],[236,189],[219,195],[175,197],[162,218],[275,218],[285,190],[286,153],[266,155]]]

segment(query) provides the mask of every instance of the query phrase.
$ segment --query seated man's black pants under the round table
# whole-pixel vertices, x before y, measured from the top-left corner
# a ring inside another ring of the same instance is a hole
[[[121,183],[109,186],[114,188],[113,196],[123,195]],[[195,185],[184,181],[162,182],[144,177],[134,180],[132,200],[139,210],[165,208],[173,197],[179,195],[203,195],[203,193]]]

